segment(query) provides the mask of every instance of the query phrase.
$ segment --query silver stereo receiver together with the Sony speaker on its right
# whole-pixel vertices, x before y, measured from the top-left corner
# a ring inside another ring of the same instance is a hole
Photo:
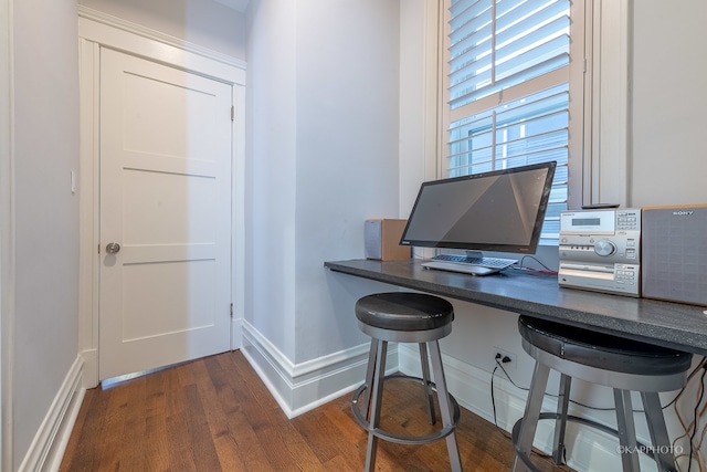
[[[707,204],[564,211],[561,286],[707,305]]]

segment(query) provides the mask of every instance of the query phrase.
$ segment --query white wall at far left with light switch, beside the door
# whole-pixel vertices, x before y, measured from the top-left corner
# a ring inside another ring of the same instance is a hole
[[[17,469],[77,355],[78,59],[74,0],[14,1],[12,421]]]

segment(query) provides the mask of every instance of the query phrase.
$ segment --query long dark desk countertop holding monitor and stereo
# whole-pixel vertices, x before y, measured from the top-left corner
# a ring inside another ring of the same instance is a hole
[[[473,276],[420,260],[325,262],[349,275],[707,355],[707,307],[560,287],[555,275],[506,270]]]

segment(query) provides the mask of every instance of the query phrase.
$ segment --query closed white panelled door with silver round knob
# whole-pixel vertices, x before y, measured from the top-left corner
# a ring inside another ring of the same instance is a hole
[[[102,50],[101,379],[230,348],[231,105],[231,85]]]

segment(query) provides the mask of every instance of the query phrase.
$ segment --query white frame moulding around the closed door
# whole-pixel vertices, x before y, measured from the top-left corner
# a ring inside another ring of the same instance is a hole
[[[244,285],[245,63],[192,43],[78,6],[80,41],[80,293],[78,354],[83,387],[98,385],[99,296],[99,73],[101,49],[110,48],[224,82],[233,87],[231,219],[231,349],[242,344]]]

